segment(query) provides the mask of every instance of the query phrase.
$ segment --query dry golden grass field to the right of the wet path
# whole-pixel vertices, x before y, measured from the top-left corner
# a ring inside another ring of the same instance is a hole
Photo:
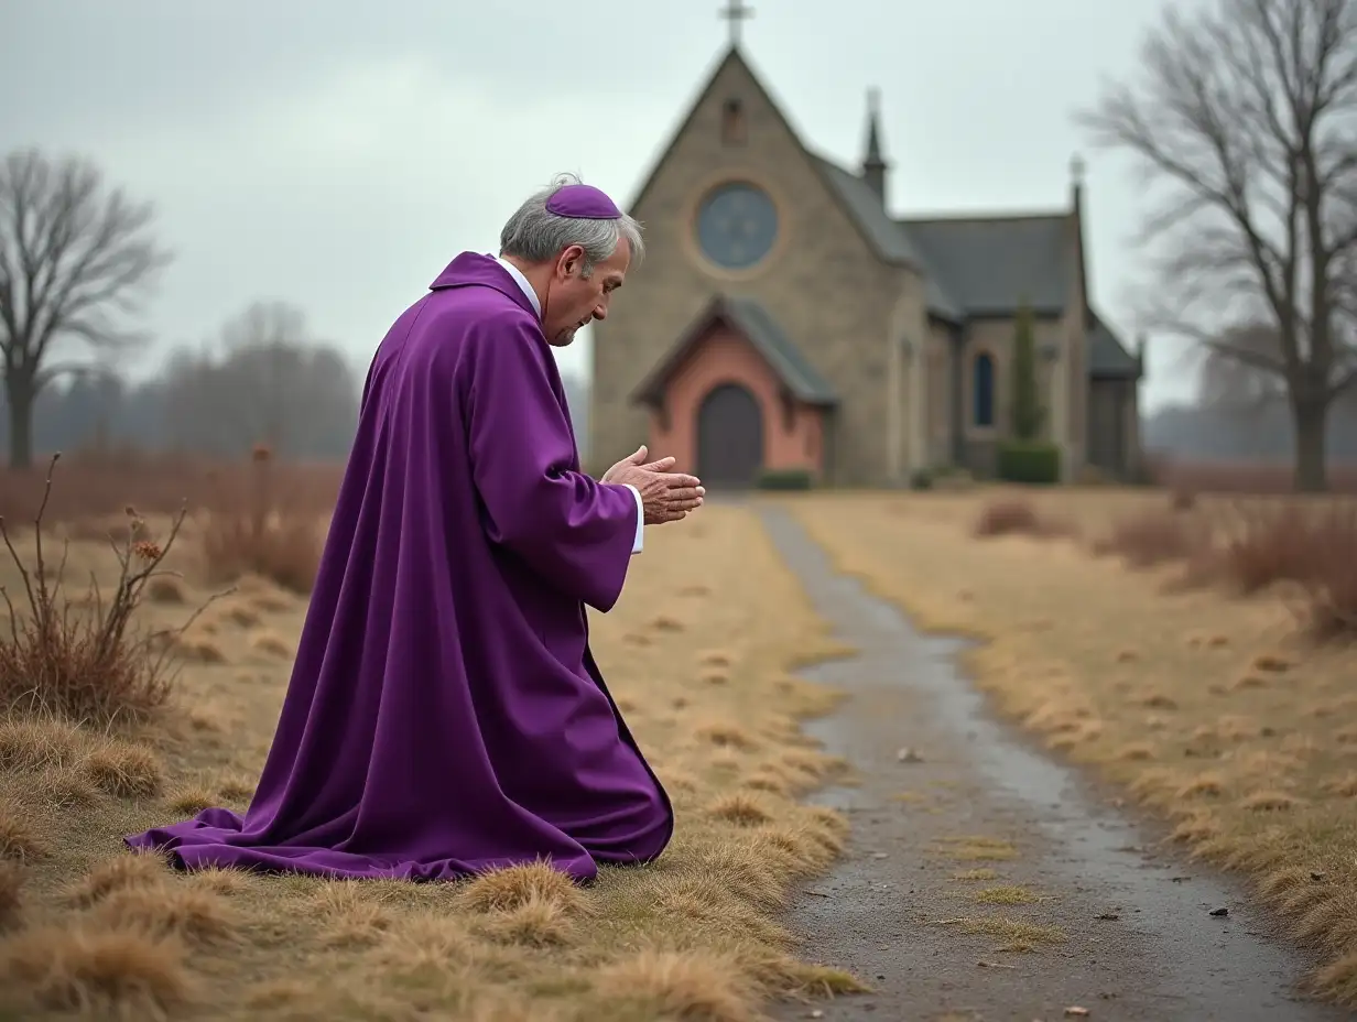
[[[1048,746],[1246,874],[1357,1006],[1357,505],[1183,489],[787,498],[840,570],[984,639]]]

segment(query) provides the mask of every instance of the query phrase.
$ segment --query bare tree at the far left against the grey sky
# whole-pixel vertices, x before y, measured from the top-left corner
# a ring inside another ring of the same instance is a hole
[[[126,346],[137,334],[118,314],[168,262],[149,236],[149,205],[106,191],[81,159],[49,162],[35,149],[0,164],[0,356],[9,410],[9,464],[33,463],[33,411],[56,376],[83,362],[57,362],[58,345]]]

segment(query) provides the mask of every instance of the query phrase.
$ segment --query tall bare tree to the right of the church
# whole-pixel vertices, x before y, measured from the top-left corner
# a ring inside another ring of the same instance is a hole
[[[1140,81],[1079,121],[1166,191],[1149,323],[1280,381],[1296,487],[1326,489],[1329,410],[1357,380],[1357,0],[1170,8]]]

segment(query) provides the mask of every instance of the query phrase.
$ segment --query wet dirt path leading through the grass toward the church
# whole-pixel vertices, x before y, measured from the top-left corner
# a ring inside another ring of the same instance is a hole
[[[780,508],[763,516],[817,612],[859,650],[806,672],[852,696],[809,730],[860,783],[818,797],[851,814],[852,844],[791,927],[807,955],[875,985],[780,1018],[1348,1017],[1293,993],[1305,962],[1235,885],[1159,850],[1152,828],[991,721],[957,672],[958,642],[920,635],[835,574]]]

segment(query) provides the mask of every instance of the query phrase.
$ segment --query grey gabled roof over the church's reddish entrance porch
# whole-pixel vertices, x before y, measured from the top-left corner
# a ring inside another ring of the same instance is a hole
[[[809,404],[836,404],[833,387],[806,361],[768,309],[753,299],[715,296],[655,368],[632,392],[632,400],[655,403],[664,395],[669,377],[683,364],[684,357],[718,322],[726,322],[763,357],[792,396]]]

